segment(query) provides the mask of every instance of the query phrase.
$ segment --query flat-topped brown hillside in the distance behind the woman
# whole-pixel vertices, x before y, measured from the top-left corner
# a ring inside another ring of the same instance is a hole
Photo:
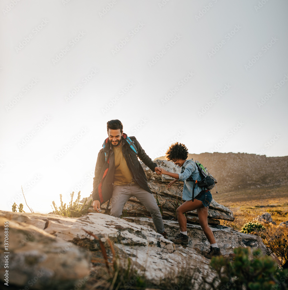
[[[218,181],[218,192],[288,185],[288,156],[266,157],[247,153],[188,154],[208,168]],[[165,157],[156,159],[165,160]]]

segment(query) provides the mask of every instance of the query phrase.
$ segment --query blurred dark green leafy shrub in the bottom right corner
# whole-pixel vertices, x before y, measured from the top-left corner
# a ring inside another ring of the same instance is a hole
[[[235,248],[234,253],[234,262],[228,261],[223,256],[212,257],[210,265],[220,279],[216,289],[287,289],[288,270],[279,269],[272,257],[263,255],[260,249],[254,249],[253,258],[250,260],[249,247]]]

